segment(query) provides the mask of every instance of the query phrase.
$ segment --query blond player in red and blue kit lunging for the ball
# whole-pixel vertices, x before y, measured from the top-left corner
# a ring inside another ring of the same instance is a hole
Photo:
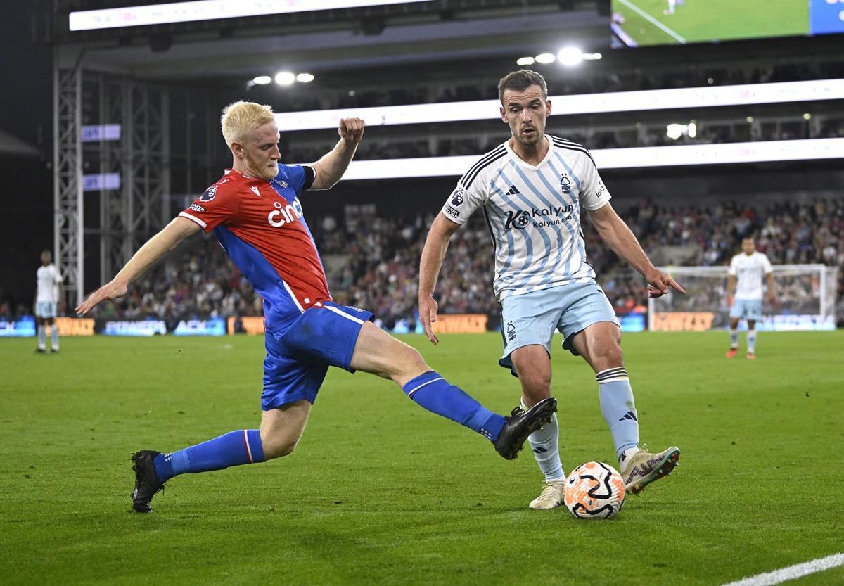
[[[214,231],[264,299],[267,358],[261,426],[230,431],[172,453],[134,453],[134,510],[149,513],[154,494],[176,475],[292,453],[328,366],[388,378],[426,410],[477,431],[504,458],[516,458],[527,436],[550,420],[555,399],[524,413],[513,410],[509,417],[495,414],[432,371],[419,352],[376,327],[371,312],[339,306],[331,299],[299,196],[340,180],[363,138],[363,120],[340,120],[338,144],[311,165],[279,164],[279,128],[269,106],[235,102],[223,111],[221,124],[233,155],[231,169],[150,238],[76,312],[84,315],[101,301],[125,295],[138,275],[179,242],[200,230]]]

